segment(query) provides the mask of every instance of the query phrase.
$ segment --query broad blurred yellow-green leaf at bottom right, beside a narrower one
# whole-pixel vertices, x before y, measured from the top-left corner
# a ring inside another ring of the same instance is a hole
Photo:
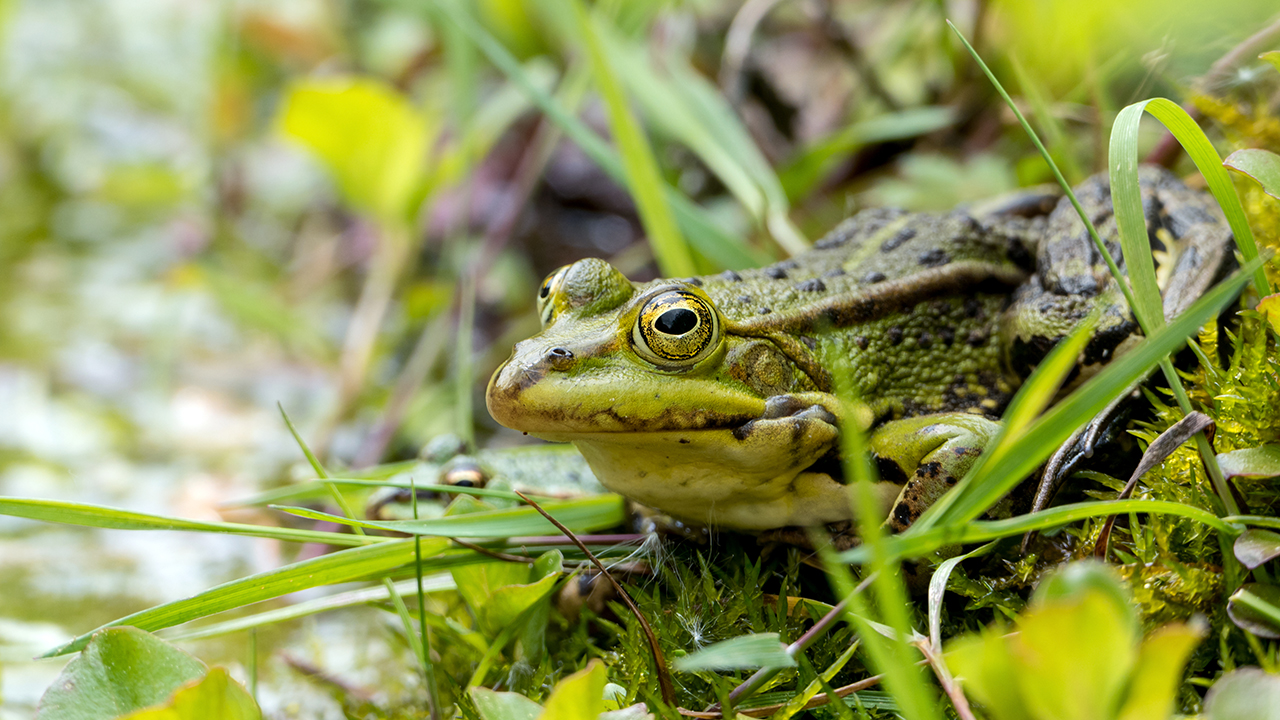
[[[1074,602],[1051,602],[1018,620],[1009,641],[1014,682],[1034,717],[1111,717],[1137,659],[1133,612],[1108,593],[1087,592]]]

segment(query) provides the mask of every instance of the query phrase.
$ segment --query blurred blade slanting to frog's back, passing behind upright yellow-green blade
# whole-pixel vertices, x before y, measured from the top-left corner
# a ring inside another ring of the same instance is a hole
[[[402,3],[402,5],[410,9],[421,8],[413,3]],[[586,123],[568,113],[549,92],[535,85],[520,61],[503,47],[502,42],[466,12],[448,4],[439,5],[439,10],[444,19],[462,28],[471,42],[475,42],[480,51],[489,58],[489,61],[516,83],[602,170],[614,182],[626,183],[622,160],[609,145],[586,127]],[[680,227],[687,233],[690,242],[712,261],[724,268],[749,268],[763,265],[771,260],[767,254],[744,246],[737,237],[718,225],[705,210],[678,190],[664,186],[664,192],[671,210]]]

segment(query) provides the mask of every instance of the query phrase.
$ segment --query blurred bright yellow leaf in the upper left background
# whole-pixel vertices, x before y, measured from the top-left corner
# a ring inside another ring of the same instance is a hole
[[[287,91],[278,122],[324,163],[353,208],[399,224],[412,218],[434,123],[393,87],[364,77],[302,79]]]

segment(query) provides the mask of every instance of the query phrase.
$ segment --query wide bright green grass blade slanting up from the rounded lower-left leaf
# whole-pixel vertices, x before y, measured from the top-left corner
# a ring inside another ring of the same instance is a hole
[[[448,551],[445,547],[448,547],[447,541],[438,541],[433,548],[436,557],[433,557],[433,560],[443,564],[443,561],[454,559],[458,553],[476,555],[470,551]],[[188,598],[166,602],[127,615],[49,651],[44,657],[77,652],[84,647],[93,633],[102,628],[133,625],[148,632],[172,628],[173,625],[180,625],[197,618],[206,618],[225,610],[243,607],[253,602],[271,600],[307,588],[385,575],[398,568],[408,566],[411,562],[413,562],[412,539],[389,541],[365,547],[340,550],[275,570],[256,573],[247,578],[209,588]]]

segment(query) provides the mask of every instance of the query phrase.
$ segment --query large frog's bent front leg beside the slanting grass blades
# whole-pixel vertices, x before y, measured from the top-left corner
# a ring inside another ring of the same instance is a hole
[[[1000,423],[966,413],[891,420],[869,446],[882,480],[902,487],[884,524],[900,533],[969,471]]]

